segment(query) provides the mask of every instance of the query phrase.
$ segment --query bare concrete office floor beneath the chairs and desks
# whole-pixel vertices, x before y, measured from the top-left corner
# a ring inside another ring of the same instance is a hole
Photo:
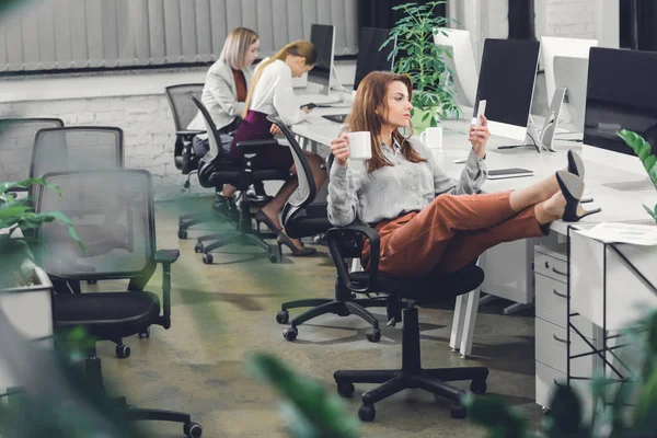
[[[270,264],[257,250],[228,246],[204,265],[194,253],[194,239],[176,237],[177,212],[206,208],[209,198],[157,206],[159,249],[180,249],[173,267],[172,327],[155,326],[149,339],[125,339],[131,356],[117,359],[114,344],[100,343],[99,355],[111,391],[128,396],[139,407],[180,410],[204,427],[204,437],[285,437],[286,429],[273,391],[244,370],[254,351],[270,351],[299,373],[318,379],[335,393],[337,369],[399,368],[401,324],[383,330],[378,344],[369,343],[368,325],[356,316],[323,316],[301,325],[299,338],[283,338],[284,326],[274,316],[283,301],[331,297],[335,269],[325,246],[313,257],[290,257]],[[207,231],[208,226],[204,227]],[[201,232],[189,232],[191,238]],[[249,254],[251,253],[251,254]],[[158,272],[149,290],[159,292]],[[101,283],[90,289],[111,289]],[[426,367],[486,366],[488,393],[522,411],[532,425],[542,418],[534,395],[533,314],[503,315],[508,302],[482,307],[476,324],[473,357],[461,359],[448,346],[452,310],[420,309],[422,353]],[[291,315],[299,311],[292,311]],[[376,310],[384,325],[384,310]],[[369,385],[357,385],[346,401],[356,416],[359,396]],[[449,406],[419,390],[402,392],[377,406],[373,423],[361,425],[362,437],[484,437],[469,420],[451,419]],[[149,424],[149,436],[180,437],[177,425]]]

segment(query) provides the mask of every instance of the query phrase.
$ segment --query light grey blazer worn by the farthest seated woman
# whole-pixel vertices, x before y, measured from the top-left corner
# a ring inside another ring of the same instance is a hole
[[[244,79],[246,79],[246,89],[251,87],[251,78],[253,70],[243,68]],[[208,108],[217,129],[230,125],[235,117],[244,111],[244,102],[238,102],[238,89],[233,79],[230,65],[222,60],[217,60],[206,77],[203,95],[200,97],[203,104]],[[187,129],[205,130],[205,123],[200,112],[189,123]]]

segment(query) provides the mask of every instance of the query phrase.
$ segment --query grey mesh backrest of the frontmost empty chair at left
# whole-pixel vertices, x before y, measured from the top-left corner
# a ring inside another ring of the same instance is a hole
[[[60,278],[131,278],[154,264],[155,235],[151,175],[143,170],[64,172],[44,176],[59,186],[43,189],[36,211],[59,210],[71,220],[87,254],[59,222],[37,231],[39,258]]]

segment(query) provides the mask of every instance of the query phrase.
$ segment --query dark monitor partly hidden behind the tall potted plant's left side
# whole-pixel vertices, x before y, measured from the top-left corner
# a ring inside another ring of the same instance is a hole
[[[392,70],[394,59],[388,59],[394,49],[394,43],[379,49],[388,39],[390,30],[378,27],[361,27],[358,37],[358,59],[356,60],[356,77],[354,79],[354,90],[372,71]]]

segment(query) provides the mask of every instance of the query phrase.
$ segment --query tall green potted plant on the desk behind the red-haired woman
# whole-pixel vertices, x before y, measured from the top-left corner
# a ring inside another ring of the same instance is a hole
[[[395,73],[406,73],[413,81],[413,125],[417,129],[437,126],[449,115],[459,116],[460,108],[454,101],[453,74],[445,61],[451,51],[434,43],[434,35],[442,32],[450,19],[437,16],[434,10],[446,1],[430,1],[426,4],[405,3],[394,7],[405,16],[390,30],[389,44],[396,46],[394,57]]]

